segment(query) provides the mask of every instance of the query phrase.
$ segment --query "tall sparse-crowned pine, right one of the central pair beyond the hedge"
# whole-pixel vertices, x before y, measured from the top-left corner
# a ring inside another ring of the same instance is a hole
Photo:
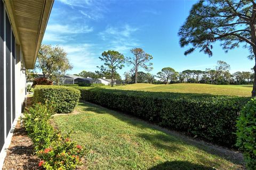
[[[134,55],[133,57],[127,57],[126,61],[129,65],[133,65],[134,75],[135,75],[135,81],[134,83],[138,82],[138,71],[139,67],[142,67],[146,71],[150,71],[153,69],[151,67],[153,63],[149,63],[150,60],[153,59],[153,57],[150,54],[147,54],[143,49],[141,48],[133,48],[131,49],[131,53]]]

